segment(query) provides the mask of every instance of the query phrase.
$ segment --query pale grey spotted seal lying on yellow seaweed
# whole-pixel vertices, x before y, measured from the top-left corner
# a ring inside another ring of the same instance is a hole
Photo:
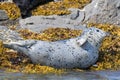
[[[36,64],[55,68],[88,68],[98,60],[98,49],[106,35],[106,32],[91,27],[85,29],[81,36],[67,40],[24,40],[4,43],[4,46],[22,52]]]

